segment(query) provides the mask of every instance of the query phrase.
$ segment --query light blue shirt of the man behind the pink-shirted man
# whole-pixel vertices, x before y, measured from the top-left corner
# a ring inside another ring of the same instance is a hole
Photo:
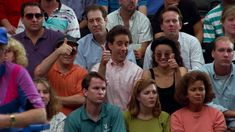
[[[78,53],[74,63],[90,71],[95,64],[100,63],[103,52],[102,48],[92,34],[88,34],[78,40],[78,44]],[[136,64],[133,50],[128,50],[127,59]]]

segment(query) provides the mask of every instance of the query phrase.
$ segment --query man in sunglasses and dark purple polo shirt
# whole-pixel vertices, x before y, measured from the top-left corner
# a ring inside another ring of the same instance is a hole
[[[38,3],[24,3],[21,7],[21,20],[25,31],[14,36],[20,41],[27,53],[27,70],[34,76],[35,67],[56,48],[56,41],[63,34],[43,28],[43,12]]]

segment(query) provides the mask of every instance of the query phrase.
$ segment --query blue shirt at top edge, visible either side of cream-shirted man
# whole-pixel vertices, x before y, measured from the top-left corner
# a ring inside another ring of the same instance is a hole
[[[158,1],[158,0],[156,0]],[[98,4],[108,7],[108,13],[113,12],[119,8],[118,0],[98,0]],[[147,5],[146,0],[139,0],[138,6]]]

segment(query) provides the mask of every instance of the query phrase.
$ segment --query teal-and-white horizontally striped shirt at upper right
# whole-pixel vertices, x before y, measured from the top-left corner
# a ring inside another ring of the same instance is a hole
[[[224,36],[221,16],[222,16],[223,6],[219,4],[212,10],[208,12],[204,19],[203,25],[203,42],[210,43],[219,36]]]

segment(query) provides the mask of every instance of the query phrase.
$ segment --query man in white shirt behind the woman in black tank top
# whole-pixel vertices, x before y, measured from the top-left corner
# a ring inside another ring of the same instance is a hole
[[[204,64],[202,48],[199,40],[187,33],[180,32],[182,27],[182,16],[175,6],[163,9],[160,15],[161,30],[167,38],[179,43],[181,57],[184,66],[188,70],[199,69]],[[144,58],[144,69],[152,68],[151,45],[148,46]]]

